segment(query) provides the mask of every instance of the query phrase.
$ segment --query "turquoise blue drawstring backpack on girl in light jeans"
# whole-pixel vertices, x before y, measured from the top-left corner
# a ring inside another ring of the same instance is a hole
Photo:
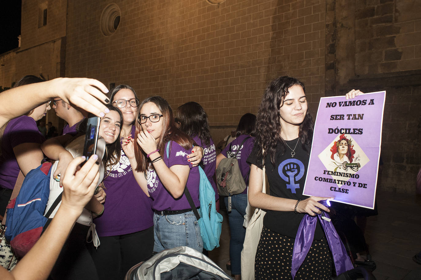
[[[167,143],[167,158],[169,157],[170,141]],[[189,201],[190,207],[195,213],[197,222],[200,226],[200,235],[203,240],[203,248],[211,251],[214,248],[219,247],[219,237],[221,236],[222,229],[222,215],[216,212],[215,206],[215,190],[213,190],[205,171],[198,166],[200,173],[200,184],[199,184],[199,201],[200,201],[200,216],[197,212],[195,203],[193,202],[192,196],[189,190],[184,188],[184,195],[186,195]]]

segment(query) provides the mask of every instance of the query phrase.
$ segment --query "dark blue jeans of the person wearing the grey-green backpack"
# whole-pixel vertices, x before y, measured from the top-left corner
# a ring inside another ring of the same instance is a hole
[[[228,197],[225,197],[226,211],[228,212]],[[231,197],[231,213],[228,212],[229,230],[229,257],[231,259],[231,273],[241,274],[241,250],[245,238],[244,222],[245,208],[247,207],[247,194],[238,194]]]

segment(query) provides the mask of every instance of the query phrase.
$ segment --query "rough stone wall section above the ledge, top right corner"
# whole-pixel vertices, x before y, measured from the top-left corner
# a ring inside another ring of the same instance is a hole
[[[356,1],[357,75],[420,69],[421,1]]]

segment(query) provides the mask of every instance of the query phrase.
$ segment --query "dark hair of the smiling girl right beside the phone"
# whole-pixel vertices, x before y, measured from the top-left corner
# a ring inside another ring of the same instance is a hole
[[[112,106],[111,104],[105,104],[105,106],[110,111],[115,111],[120,116],[120,130],[123,126],[123,113],[118,109],[117,107]],[[69,143],[73,140],[75,140],[79,136],[83,136],[86,132],[86,126],[88,125],[88,118],[83,119],[78,125],[77,125],[77,135],[73,137]],[[67,143],[68,144],[68,143]],[[104,165],[104,168],[107,169],[107,167],[111,168],[113,165],[116,165],[120,161],[121,156],[121,143],[120,143],[120,137],[117,137],[117,140],[112,142],[111,144],[105,145],[105,154],[102,158],[102,164]]]

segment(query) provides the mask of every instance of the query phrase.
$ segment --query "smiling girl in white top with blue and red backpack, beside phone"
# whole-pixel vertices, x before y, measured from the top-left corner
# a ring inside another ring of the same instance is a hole
[[[98,139],[98,142],[104,141],[106,149],[102,161],[99,160],[101,161],[101,164],[98,184],[104,178],[105,168],[115,164],[120,159],[120,141],[118,141],[118,137],[120,135],[123,116],[117,108],[110,105],[107,105],[107,108],[110,112],[101,118],[99,125],[99,136],[102,138]],[[83,120],[82,123],[80,123],[78,130],[85,131],[86,123],[87,120]],[[66,142],[69,143],[67,143],[64,148],[62,145]],[[69,134],[65,134],[63,136],[48,139],[42,145],[45,155],[56,160],[51,169],[50,195],[48,197],[45,213],[48,212],[53,202],[63,191],[61,185],[65,178],[63,175],[64,172],[61,172],[62,177],[57,181],[57,170],[61,170],[60,168],[63,167],[65,169],[74,157],[81,156],[83,154],[84,143],[85,133],[81,132],[79,136],[73,138]],[[101,147],[101,145],[98,144],[97,147]],[[57,206],[56,210],[53,211],[50,219],[53,218],[58,208],[59,207]],[[88,244],[85,240],[87,240],[89,235],[92,235],[93,243],[99,243],[95,225],[92,223],[92,218],[101,215],[103,211],[104,205],[102,205],[94,195],[77,219],[72,232],[70,232],[69,238],[64,244],[59,258],[51,272],[52,279],[99,279],[95,264],[88,251]]]

